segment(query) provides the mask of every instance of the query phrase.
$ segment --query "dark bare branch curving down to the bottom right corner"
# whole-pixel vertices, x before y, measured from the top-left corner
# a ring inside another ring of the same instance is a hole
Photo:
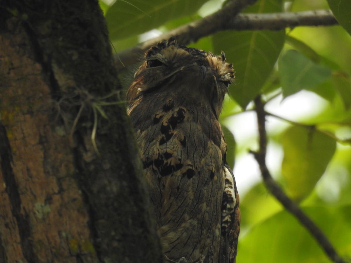
[[[257,152],[251,151],[256,161],[259,164],[263,182],[266,188],[272,193],[277,200],[282,203],[286,210],[293,214],[302,225],[310,232],[316,239],[326,255],[336,263],[345,263],[345,261],[337,254],[332,244],[329,242],[323,232],[317,225],[294,203],[273,180],[267,166],[266,166],[266,149],[267,149],[267,135],[266,135],[266,112],[264,110],[264,103],[261,97],[258,96],[255,100],[255,111],[257,114],[258,132],[259,132],[259,150]]]

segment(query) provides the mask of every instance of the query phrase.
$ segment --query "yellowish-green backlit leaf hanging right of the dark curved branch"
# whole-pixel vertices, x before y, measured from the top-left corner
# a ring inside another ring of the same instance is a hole
[[[297,201],[308,196],[330,162],[336,142],[324,133],[293,126],[281,137],[282,175],[287,193]]]

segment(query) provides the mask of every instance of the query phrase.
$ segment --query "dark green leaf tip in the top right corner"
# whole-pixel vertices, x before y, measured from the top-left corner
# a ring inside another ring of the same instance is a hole
[[[351,1],[350,0],[327,0],[339,24],[351,35]]]

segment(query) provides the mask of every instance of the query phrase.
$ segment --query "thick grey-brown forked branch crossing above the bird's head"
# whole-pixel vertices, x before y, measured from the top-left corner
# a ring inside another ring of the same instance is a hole
[[[237,0],[221,8],[216,13],[197,21],[177,27],[156,38],[122,50],[116,55],[118,71],[133,65],[145,51],[158,42],[175,36],[182,45],[196,42],[198,39],[224,30],[282,30],[296,26],[332,26],[337,25],[330,10],[315,10],[298,13],[238,14],[246,6],[257,0]]]

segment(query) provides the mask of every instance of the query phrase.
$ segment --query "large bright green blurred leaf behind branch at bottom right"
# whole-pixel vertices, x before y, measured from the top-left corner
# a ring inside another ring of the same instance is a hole
[[[304,211],[322,229],[341,255],[351,249],[351,206],[306,207]],[[287,211],[255,225],[238,244],[237,262],[330,263],[310,233]]]

